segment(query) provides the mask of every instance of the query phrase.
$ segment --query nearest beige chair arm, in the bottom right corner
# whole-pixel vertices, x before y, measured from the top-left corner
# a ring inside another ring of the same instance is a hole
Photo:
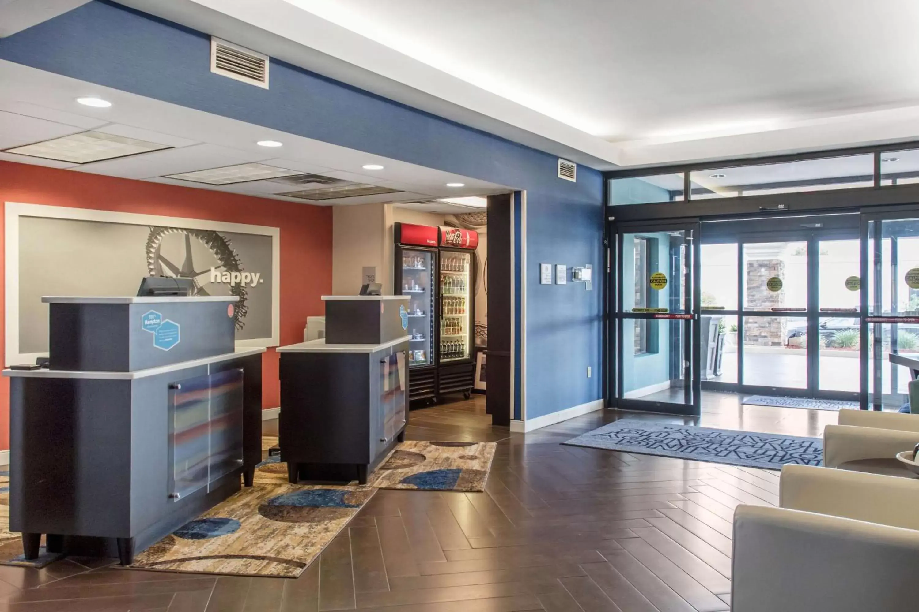
[[[912,610],[917,567],[911,529],[767,506],[734,513],[733,612]]]

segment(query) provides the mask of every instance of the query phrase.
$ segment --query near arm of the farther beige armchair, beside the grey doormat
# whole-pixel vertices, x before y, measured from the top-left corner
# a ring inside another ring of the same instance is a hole
[[[893,459],[900,451],[912,451],[919,432],[897,429],[827,425],[823,428],[823,465],[839,467],[858,459]]]

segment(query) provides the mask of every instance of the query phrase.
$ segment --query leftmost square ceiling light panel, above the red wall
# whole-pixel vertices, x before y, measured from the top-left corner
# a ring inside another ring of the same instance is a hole
[[[172,147],[157,142],[129,139],[124,136],[90,130],[62,136],[59,139],[42,140],[22,147],[13,147],[7,149],[6,152],[46,160],[89,163],[164,149],[172,149]]]

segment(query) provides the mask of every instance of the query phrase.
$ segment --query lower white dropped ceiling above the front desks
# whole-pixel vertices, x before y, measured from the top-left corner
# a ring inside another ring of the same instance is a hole
[[[258,195],[319,206],[416,202],[460,195],[492,195],[506,193],[510,189],[505,185],[486,183],[459,174],[382,158],[359,150],[346,149],[319,140],[305,139],[184,106],[100,87],[9,61],[0,61],[0,82],[13,83],[13,86],[0,90],[0,149],[60,138],[86,129],[173,147],[82,165],[10,152],[0,152],[0,160],[153,183]],[[88,95],[108,100],[112,106],[92,108],[75,102],[75,98]],[[279,140],[283,147],[268,149],[255,144],[257,140],[265,139]],[[300,198],[278,195],[282,192],[296,191],[297,188],[272,181],[214,186],[165,178],[166,174],[247,162],[260,162],[297,172],[319,173],[356,183],[376,184],[398,189],[400,193],[312,203]],[[384,168],[381,171],[367,171],[361,168],[371,163],[380,164]],[[465,186],[448,187],[448,183],[463,183]]]

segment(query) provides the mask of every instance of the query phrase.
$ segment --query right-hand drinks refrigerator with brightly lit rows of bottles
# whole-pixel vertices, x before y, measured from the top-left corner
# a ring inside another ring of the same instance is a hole
[[[437,279],[437,396],[462,392],[469,399],[475,384],[475,248],[471,229],[439,228]]]

